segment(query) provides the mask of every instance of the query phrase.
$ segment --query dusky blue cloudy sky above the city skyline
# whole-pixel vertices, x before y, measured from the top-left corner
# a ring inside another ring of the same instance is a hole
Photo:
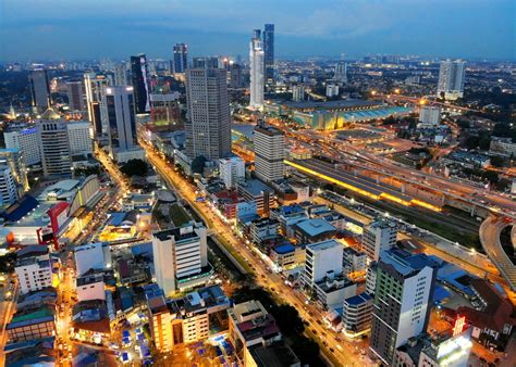
[[[278,58],[516,60],[514,0],[0,0],[0,60],[246,58],[265,23]]]

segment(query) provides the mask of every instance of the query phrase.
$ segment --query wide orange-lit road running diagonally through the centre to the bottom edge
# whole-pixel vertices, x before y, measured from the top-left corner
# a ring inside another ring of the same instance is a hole
[[[231,226],[211,211],[205,202],[196,202],[196,187],[180,176],[171,165],[157,153],[151,147],[143,144],[147,151],[149,163],[160,174],[167,184],[174,188],[181,197],[205,219],[206,225],[212,230],[219,241],[235,249],[245,262],[254,269],[256,282],[273,292],[274,296],[294,306],[299,316],[308,324],[308,334],[312,334],[321,346],[321,352],[336,365],[364,366],[371,364],[367,356],[360,354],[366,347],[360,341],[357,345],[342,340],[342,334],[336,333],[323,326],[323,314],[314,304],[307,304],[305,295],[293,290],[284,283],[280,275],[271,271],[269,266],[259,255],[245,244],[231,229]]]

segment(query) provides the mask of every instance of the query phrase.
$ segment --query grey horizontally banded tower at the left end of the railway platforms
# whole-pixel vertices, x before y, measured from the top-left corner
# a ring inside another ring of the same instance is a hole
[[[284,176],[285,137],[280,129],[257,125],[255,127],[255,174],[265,181],[273,181]]]

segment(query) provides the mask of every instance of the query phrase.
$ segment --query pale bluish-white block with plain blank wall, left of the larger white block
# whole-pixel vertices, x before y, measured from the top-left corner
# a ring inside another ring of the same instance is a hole
[[[82,276],[90,269],[102,270],[111,268],[111,251],[109,245],[102,245],[100,242],[76,246],[74,255],[77,276]]]

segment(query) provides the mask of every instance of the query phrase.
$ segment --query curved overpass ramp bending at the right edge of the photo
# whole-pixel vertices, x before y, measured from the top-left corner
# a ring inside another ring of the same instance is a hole
[[[496,265],[500,273],[507,280],[511,289],[516,291],[516,266],[508,258],[507,254],[502,248],[500,235],[505,227],[513,226],[513,223],[506,222],[504,218],[491,215],[480,225],[480,242],[488,254],[489,258]],[[513,245],[516,241],[516,228],[513,227],[512,239]]]

